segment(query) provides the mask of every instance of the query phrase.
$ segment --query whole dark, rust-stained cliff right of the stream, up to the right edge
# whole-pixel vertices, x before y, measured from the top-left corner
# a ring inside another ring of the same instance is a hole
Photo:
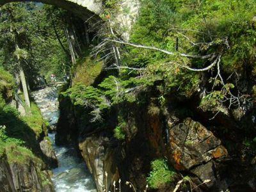
[[[152,112],[150,103],[147,107],[129,104],[119,106],[121,111],[126,111],[128,118],[127,126],[124,128],[125,140],[118,141],[113,136],[115,126],[111,126],[115,125],[115,120],[109,122],[108,116],[108,121],[103,122],[105,128],[97,127],[81,118],[90,114],[86,111],[81,112],[81,109],[72,106],[71,102],[69,104],[70,106],[65,108],[69,113],[60,118],[64,120],[66,130],[57,127],[57,131],[60,138],[61,132],[67,134],[64,138],[70,138],[72,132],[77,132],[79,149],[93,175],[98,191],[102,191],[103,186],[108,186],[110,190],[113,181],[117,182],[119,178],[122,179],[122,184],[129,180],[138,191],[143,191],[150,172],[150,162],[164,157],[167,157],[177,173],[189,175],[195,186],[201,184],[198,191],[239,189],[239,186],[248,191],[255,189],[255,180],[252,179],[253,165],[237,159],[239,154],[235,153],[238,151],[228,152],[227,143],[223,142],[223,137],[220,137],[218,132],[210,131],[210,125],[209,128],[193,118],[176,115],[179,114],[179,109],[154,106],[155,112]],[[109,114],[115,116],[113,111]],[[68,119],[72,124],[68,125]],[[220,122],[227,125],[223,120]],[[69,129],[71,125],[73,127]],[[238,177],[234,177],[237,173],[232,168],[233,163],[236,163],[237,172],[241,173]],[[245,173],[244,170],[248,172]],[[105,172],[108,173],[107,184]],[[203,182],[205,184],[202,184]],[[175,185],[163,186],[159,191],[172,191],[174,187]],[[123,191],[129,191],[125,185],[122,188]]]

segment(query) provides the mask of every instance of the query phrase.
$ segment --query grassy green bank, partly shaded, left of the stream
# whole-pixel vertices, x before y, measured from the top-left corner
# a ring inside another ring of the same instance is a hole
[[[13,91],[13,90],[11,90]],[[3,93],[4,94],[4,93]],[[34,102],[31,102],[30,113],[20,116],[19,111],[10,104],[6,104],[0,95],[0,140],[1,148],[9,144],[26,146],[38,154],[37,139],[42,133],[44,120]]]

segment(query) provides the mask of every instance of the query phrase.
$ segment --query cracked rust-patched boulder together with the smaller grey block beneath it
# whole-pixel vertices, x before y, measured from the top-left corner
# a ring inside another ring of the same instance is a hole
[[[228,156],[221,141],[199,122],[186,118],[170,128],[170,161],[177,170],[189,171],[211,187],[216,180],[216,162]],[[218,161],[217,161],[218,160]]]

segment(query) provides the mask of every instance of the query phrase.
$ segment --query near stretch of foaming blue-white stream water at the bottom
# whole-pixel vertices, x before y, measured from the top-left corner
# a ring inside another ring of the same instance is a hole
[[[55,145],[55,133],[49,134],[53,143],[56,157],[58,158],[58,168],[53,171],[52,182],[58,192],[96,192],[92,176],[77,154],[77,150],[72,146]]]

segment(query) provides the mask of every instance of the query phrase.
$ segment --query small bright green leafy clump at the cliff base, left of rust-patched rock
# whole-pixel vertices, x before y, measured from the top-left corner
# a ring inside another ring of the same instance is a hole
[[[147,177],[150,188],[158,189],[164,184],[173,181],[176,173],[173,171],[165,159],[156,159],[151,163],[152,171]]]

